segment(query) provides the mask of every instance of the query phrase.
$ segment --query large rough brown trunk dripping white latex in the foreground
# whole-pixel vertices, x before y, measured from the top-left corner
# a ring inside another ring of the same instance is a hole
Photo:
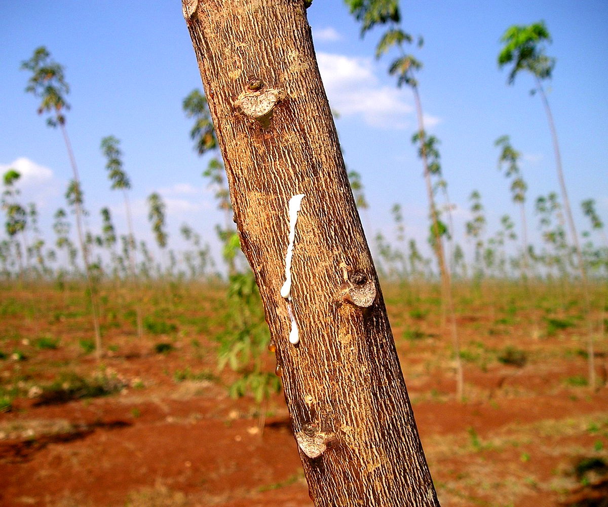
[[[304,1],[183,7],[314,505],[438,506]]]

